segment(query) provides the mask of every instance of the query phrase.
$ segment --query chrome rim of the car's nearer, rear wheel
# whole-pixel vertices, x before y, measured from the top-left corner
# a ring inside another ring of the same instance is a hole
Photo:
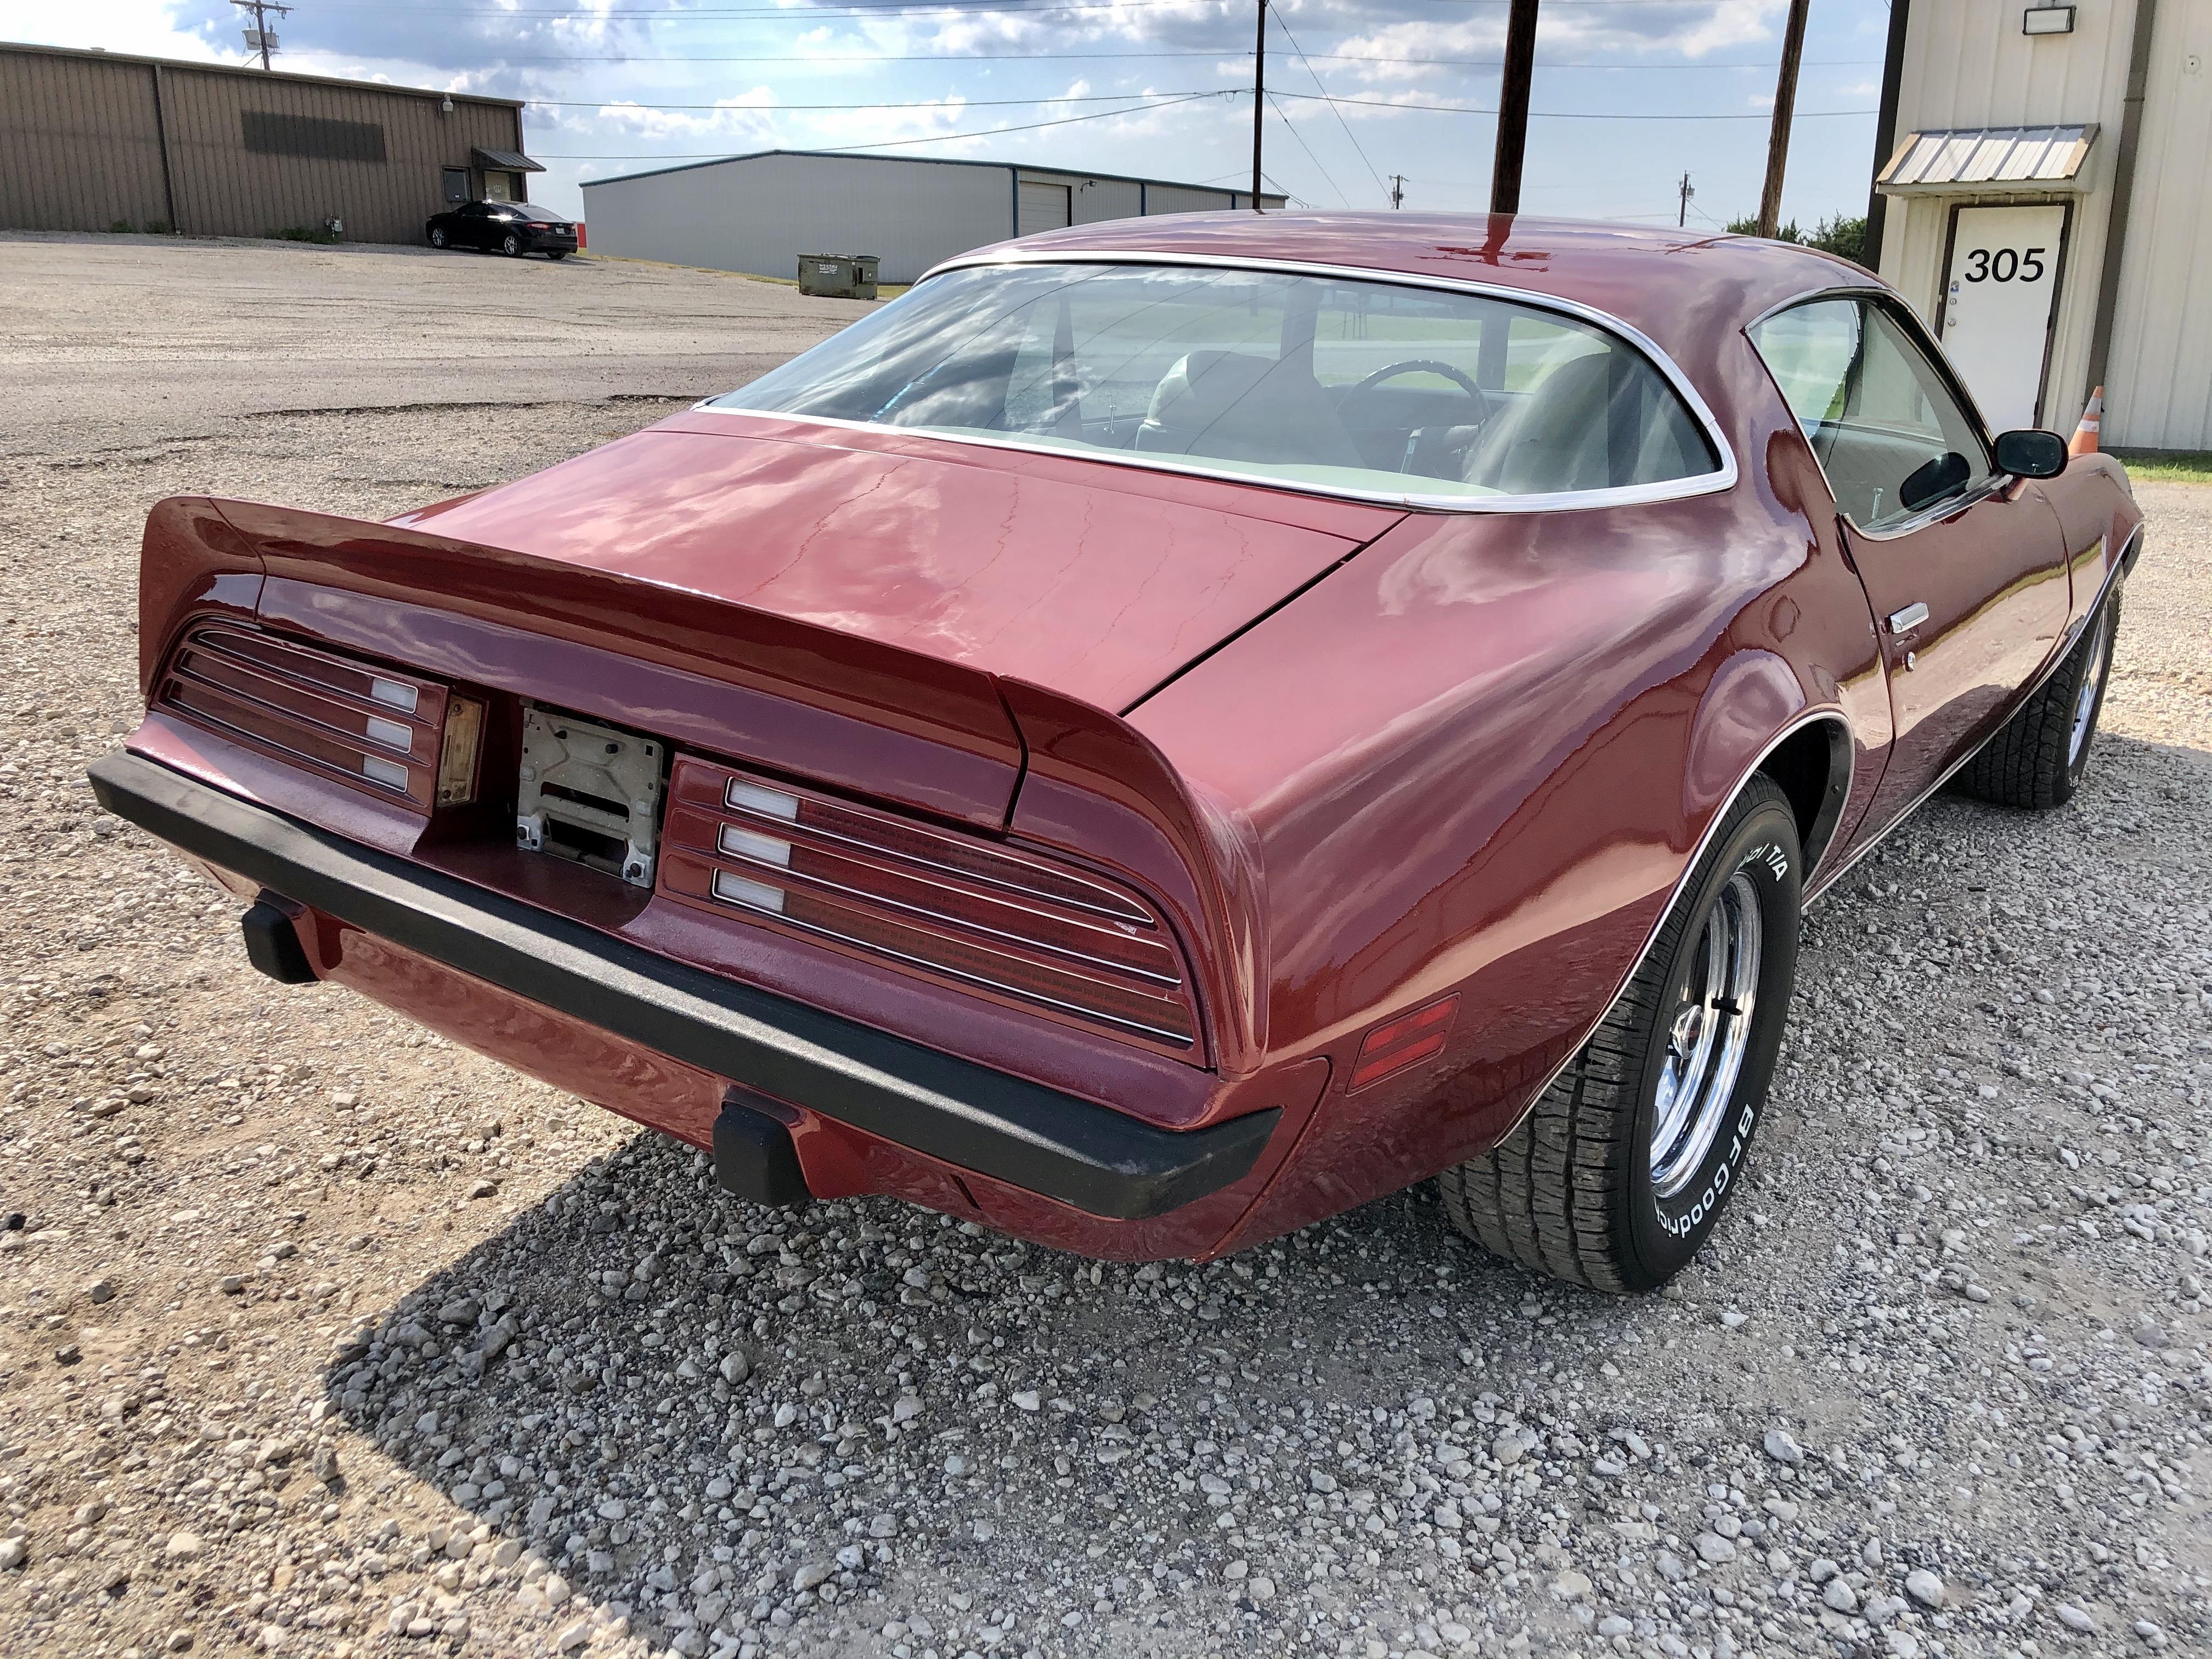
[[[1652,1108],[1652,1192],[1670,1199],[1697,1177],[1728,1121],[1759,1004],[1765,920],[1759,889],[1736,872],[1690,947],[1690,973],[1666,1026]]]

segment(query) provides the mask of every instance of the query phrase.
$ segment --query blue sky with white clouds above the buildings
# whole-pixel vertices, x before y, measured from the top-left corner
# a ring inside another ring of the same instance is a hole
[[[1692,226],[1754,212],[1785,9],[1544,0],[1522,208],[1661,223],[1690,173]],[[772,146],[1230,181],[1252,164],[1252,0],[299,0],[276,20],[276,64],[533,100],[524,139],[546,175],[531,195],[564,212],[582,208],[580,179]],[[1270,4],[1274,186],[1380,208],[1400,173],[1407,206],[1480,212],[1495,122],[1433,106],[1495,108],[1504,20],[1504,0]],[[1887,0],[1814,0],[1785,217],[1865,210],[1887,20]],[[168,58],[243,62],[243,22],[223,0],[0,0],[4,40]],[[1168,102],[1188,93],[1208,95]]]

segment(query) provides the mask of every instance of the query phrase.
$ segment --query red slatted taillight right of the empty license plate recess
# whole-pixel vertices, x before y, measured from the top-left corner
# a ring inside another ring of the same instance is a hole
[[[681,757],[664,891],[1104,1024],[1197,1044],[1159,911],[1102,876]]]

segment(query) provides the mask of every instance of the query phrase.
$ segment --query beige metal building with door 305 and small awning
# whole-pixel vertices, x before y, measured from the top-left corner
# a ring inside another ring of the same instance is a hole
[[[1993,427],[2212,449],[2208,0],[1891,0],[1874,188]]]

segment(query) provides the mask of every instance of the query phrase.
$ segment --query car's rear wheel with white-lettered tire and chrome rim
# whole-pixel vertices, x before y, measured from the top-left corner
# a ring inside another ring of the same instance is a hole
[[[1790,799],[1754,776],[1590,1042],[1520,1128],[1438,1177],[1451,1225],[1590,1290],[1681,1272],[1759,1128],[1803,883]]]

